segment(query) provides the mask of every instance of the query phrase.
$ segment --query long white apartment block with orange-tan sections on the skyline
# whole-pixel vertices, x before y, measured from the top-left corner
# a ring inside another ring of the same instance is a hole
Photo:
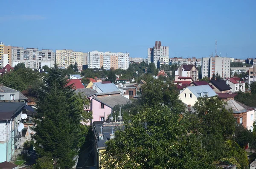
[[[88,52],[88,67],[90,69],[128,69],[129,68],[129,53],[121,52],[99,52],[92,51]]]

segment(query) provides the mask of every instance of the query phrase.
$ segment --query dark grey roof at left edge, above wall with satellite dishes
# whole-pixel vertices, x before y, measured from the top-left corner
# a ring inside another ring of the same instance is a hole
[[[0,120],[10,120],[26,104],[24,102],[0,102]]]

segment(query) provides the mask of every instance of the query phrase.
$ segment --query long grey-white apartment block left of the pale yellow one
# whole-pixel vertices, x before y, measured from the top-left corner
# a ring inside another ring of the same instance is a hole
[[[41,69],[43,66],[52,67],[55,61],[55,52],[50,49],[27,48],[12,46],[12,67],[24,63],[26,68]]]

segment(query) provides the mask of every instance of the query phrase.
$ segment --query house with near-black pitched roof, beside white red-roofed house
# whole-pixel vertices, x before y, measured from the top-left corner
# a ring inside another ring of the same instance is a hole
[[[227,93],[231,92],[231,87],[228,85],[228,82],[222,79],[210,80],[209,85],[211,85],[216,93]]]

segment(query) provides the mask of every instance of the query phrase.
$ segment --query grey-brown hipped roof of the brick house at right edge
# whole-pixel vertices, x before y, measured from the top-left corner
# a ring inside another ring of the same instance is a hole
[[[231,99],[227,101],[227,109],[230,108],[233,110],[233,113],[243,113],[253,110],[251,107]]]

